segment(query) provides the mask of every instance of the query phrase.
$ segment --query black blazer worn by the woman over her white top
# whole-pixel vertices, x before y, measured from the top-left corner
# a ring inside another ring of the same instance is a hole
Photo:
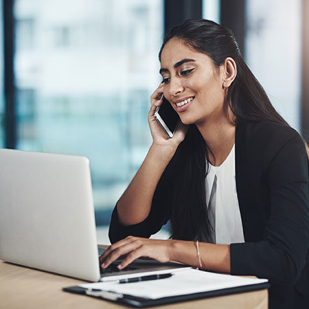
[[[308,157],[299,134],[238,119],[236,188],[245,242],[230,245],[231,274],[267,278],[270,308],[309,308]],[[168,219],[152,203],[148,218],[124,227],[115,208],[109,237],[112,243],[128,235],[148,238]]]

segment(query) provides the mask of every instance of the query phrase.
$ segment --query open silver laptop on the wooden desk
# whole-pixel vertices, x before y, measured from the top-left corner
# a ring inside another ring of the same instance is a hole
[[[119,271],[118,260],[100,273],[86,157],[0,149],[0,166],[1,260],[91,282],[188,268],[137,259]]]

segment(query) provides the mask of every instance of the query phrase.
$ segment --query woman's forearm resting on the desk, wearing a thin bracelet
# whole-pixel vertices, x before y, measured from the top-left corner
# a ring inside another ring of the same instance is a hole
[[[201,262],[205,271],[231,273],[231,262],[228,244],[208,244],[198,242]],[[171,260],[200,268],[196,242],[171,240]]]

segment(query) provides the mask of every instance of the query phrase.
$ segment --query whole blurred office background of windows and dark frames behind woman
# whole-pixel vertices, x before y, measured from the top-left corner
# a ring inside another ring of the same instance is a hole
[[[87,156],[101,242],[151,143],[149,97],[173,25],[230,27],[277,111],[309,137],[309,1],[0,0],[0,10],[0,147]]]

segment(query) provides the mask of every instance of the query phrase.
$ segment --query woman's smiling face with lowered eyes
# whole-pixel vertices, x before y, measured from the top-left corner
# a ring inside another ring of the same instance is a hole
[[[172,38],[163,48],[160,73],[164,96],[183,124],[203,124],[225,115],[225,67],[216,67],[211,58]]]

